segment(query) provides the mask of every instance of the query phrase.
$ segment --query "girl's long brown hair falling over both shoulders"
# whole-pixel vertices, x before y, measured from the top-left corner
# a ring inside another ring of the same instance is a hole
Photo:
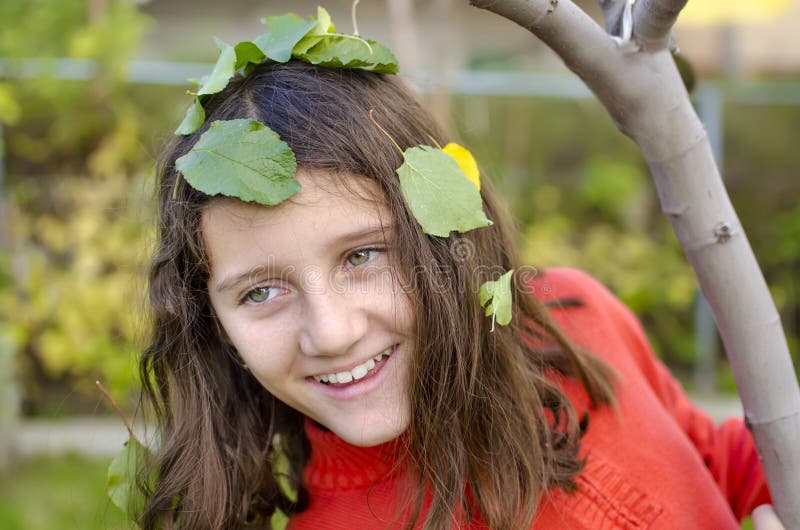
[[[475,515],[469,489],[490,527],[516,528],[530,524],[545,490],[573,489],[583,465],[580,422],[546,372],[577,378],[597,404],[613,400],[608,370],[570,344],[518,278],[512,323],[490,331],[476,293],[483,281],[520,267],[511,223],[484,179],[491,227],[448,238],[422,232],[400,192],[395,169],[402,157],[369,119],[372,109],[403,149],[446,143],[402,82],[299,62],[263,63],[205,107],[204,127],[176,137],[158,166],[153,337],[140,370],[161,446],[143,528],[239,528],[277,508],[302,511],[307,502],[303,418],[262,388],[226,342],[207,293],[200,232],[202,210],[213,198],[175,170],[175,160],[218,119],[257,119],[289,144],[301,167],[364,175],[385,194],[395,231],[390,254],[409,281],[416,323],[407,456],[419,488],[406,523],[424,517],[426,528],[443,528],[454,513]],[[295,500],[278,485],[277,455],[288,458]],[[426,488],[432,504],[423,513]]]

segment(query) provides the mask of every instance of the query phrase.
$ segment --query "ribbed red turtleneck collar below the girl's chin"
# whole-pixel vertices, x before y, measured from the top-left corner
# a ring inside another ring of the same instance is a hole
[[[315,421],[306,418],[311,457],[303,470],[310,490],[367,488],[394,475],[400,468],[405,441],[401,436],[373,447],[351,445]]]

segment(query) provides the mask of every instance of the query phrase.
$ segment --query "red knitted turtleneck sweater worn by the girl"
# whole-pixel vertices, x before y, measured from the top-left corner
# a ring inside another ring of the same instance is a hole
[[[551,269],[533,282],[542,301],[574,297],[584,305],[554,309],[577,344],[621,375],[619,415],[592,410],[581,442],[586,467],[578,491],[542,499],[533,528],[738,529],[737,520],[769,502],[761,465],[739,419],[716,426],[697,409],[654,356],[633,314],[585,273]],[[573,380],[561,384],[579,414],[588,400]],[[307,421],[310,495],[290,529],[382,529],[396,526],[404,499],[395,467],[400,444],[355,447]],[[502,470],[498,470],[502,472]],[[470,528],[485,528],[476,521]]]

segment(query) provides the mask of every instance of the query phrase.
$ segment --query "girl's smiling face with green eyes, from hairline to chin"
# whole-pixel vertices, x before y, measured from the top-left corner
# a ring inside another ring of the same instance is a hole
[[[409,419],[413,315],[390,266],[378,186],[300,170],[275,207],[213,201],[208,292],[228,340],[273,396],[344,440],[376,445]]]

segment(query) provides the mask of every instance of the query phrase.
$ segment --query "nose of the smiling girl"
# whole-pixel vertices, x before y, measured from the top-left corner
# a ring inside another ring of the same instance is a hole
[[[300,349],[306,355],[344,355],[367,331],[363,295],[337,292],[330,285],[305,293]]]

